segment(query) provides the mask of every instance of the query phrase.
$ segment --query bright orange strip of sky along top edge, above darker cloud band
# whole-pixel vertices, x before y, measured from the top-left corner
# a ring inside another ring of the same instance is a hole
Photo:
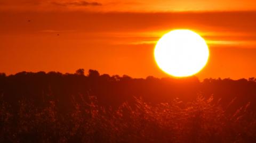
[[[0,10],[12,11],[252,11],[254,0],[0,0]]]

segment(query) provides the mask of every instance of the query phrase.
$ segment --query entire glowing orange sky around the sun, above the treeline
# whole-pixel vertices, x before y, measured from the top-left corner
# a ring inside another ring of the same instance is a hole
[[[254,2],[191,2],[0,0],[0,72],[84,68],[166,77],[154,61],[155,43],[186,28],[210,47],[209,63],[197,77],[255,77]]]

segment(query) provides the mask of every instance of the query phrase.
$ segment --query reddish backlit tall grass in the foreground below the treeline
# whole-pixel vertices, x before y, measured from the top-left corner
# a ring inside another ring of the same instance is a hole
[[[102,107],[97,98],[73,100],[62,112],[57,100],[44,107],[20,100],[14,110],[1,99],[0,142],[256,142],[255,113],[250,103],[235,113],[198,96],[153,105],[141,98],[118,108]]]

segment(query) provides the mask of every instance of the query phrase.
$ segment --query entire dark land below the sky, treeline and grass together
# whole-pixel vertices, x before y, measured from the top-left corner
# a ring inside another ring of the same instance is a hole
[[[254,78],[0,75],[0,142],[256,142]]]

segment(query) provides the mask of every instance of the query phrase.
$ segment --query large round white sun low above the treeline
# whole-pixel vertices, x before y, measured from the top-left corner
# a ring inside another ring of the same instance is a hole
[[[205,40],[191,30],[173,30],[158,40],[155,61],[174,77],[189,77],[201,71],[209,58]]]

